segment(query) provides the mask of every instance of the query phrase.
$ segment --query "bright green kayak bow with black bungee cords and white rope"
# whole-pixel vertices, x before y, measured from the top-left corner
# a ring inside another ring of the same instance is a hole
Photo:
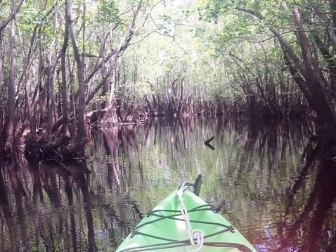
[[[150,210],[116,252],[256,251],[214,206],[196,195],[200,185],[195,184],[183,183]],[[190,186],[194,192],[186,189]]]

